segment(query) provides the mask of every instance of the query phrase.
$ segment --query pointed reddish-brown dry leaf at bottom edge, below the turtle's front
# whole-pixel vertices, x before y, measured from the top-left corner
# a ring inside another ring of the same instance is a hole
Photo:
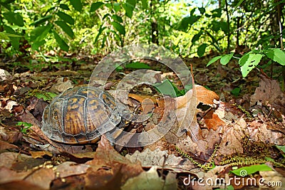
[[[143,171],[140,164],[133,164],[116,152],[105,135],[101,137],[94,159],[86,164],[90,165],[85,176],[87,189],[120,189],[125,181]]]

